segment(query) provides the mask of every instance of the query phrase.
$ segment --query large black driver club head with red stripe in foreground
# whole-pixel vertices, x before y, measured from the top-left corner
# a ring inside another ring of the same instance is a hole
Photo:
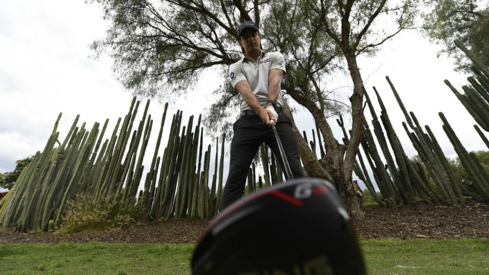
[[[365,274],[350,217],[331,183],[302,178],[228,206],[201,235],[193,275]]]

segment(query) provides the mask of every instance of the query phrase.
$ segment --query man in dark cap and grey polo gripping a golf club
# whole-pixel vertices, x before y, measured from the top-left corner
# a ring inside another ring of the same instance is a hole
[[[229,67],[229,78],[241,95],[241,117],[233,125],[230,167],[221,210],[242,197],[248,170],[262,142],[284,167],[270,128],[271,121],[276,123],[293,177],[304,177],[290,118],[282,114],[284,99],[280,81],[285,72],[284,57],[280,52],[261,50],[261,35],[253,21],[242,22],[238,34],[244,57]]]

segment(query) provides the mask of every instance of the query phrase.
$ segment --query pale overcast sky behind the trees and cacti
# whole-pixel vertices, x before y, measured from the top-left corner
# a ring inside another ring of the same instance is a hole
[[[128,111],[132,96],[115,80],[112,61],[89,57],[88,45],[103,38],[107,28],[101,16],[97,5],[81,0],[0,2],[0,172],[13,171],[16,160],[42,150],[59,113],[63,113],[59,131],[64,137],[77,114],[89,128],[108,118],[107,131],[111,131],[117,118]],[[487,150],[472,126],[474,120],[443,83],[449,79],[461,90],[466,76],[453,72],[451,60],[437,59],[437,49],[415,31],[406,31],[386,42],[375,58],[359,59],[377,113],[380,110],[372,86],[381,94],[404,149],[409,156],[415,155],[401,125],[404,117],[385,80],[389,75],[408,111],[413,111],[422,125],[431,127],[447,156],[456,154],[438,112],[445,114],[468,150]],[[208,72],[196,92],[171,103],[167,121],[177,109],[183,110],[185,123],[188,116],[198,116],[210,102],[211,91],[219,86],[213,75],[217,73]],[[331,89],[351,86],[348,76],[336,76],[329,85]],[[151,102],[154,125],[159,125],[162,108],[157,100]],[[310,133],[312,117],[298,109],[296,124]],[[166,125],[169,130],[170,123]],[[331,126],[341,139],[336,122]],[[153,127],[153,137],[157,128]],[[147,154],[146,162],[151,157],[152,153]]]

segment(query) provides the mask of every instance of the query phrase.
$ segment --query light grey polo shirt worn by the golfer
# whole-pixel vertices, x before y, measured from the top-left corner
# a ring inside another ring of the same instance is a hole
[[[268,74],[272,69],[281,69],[285,72],[285,59],[282,53],[278,51],[264,52],[261,51],[258,61],[243,57],[241,60],[229,66],[229,78],[233,88],[241,80],[247,80],[253,94],[255,94],[260,105],[266,106],[268,100]],[[241,98],[241,111],[251,110],[246,104],[243,96]],[[284,99],[282,92],[279,92],[277,107],[282,106]]]

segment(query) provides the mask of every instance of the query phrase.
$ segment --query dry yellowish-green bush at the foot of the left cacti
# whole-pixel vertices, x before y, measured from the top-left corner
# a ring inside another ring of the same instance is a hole
[[[98,202],[93,196],[79,193],[69,201],[58,233],[82,231],[122,230],[144,218],[144,209],[135,201],[124,202],[109,196]]]

